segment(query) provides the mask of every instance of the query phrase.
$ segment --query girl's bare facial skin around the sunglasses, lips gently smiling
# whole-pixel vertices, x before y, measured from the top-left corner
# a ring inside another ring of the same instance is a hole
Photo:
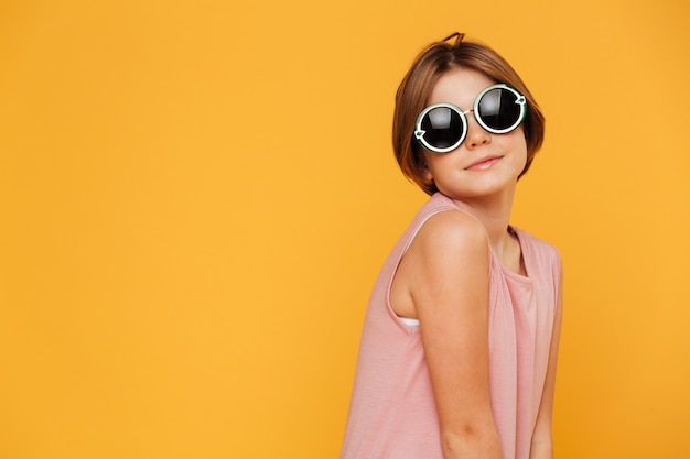
[[[428,105],[450,102],[470,110],[477,95],[495,83],[475,70],[453,69],[441,76]],[[466,117],[467,136],[459,147],[448,153],[424,150],[427,179],[433,179],[448,197],[460,200],[514,189],[527,163],[522,127],[507,134],[493,134],[477,123],[472,112]]]

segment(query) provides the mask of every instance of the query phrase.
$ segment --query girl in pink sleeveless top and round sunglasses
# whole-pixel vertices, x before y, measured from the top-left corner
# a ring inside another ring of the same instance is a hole
[[[402,79],[393,149],[431,197],[374,286],[342,459],[552,458],[561,261],[509,225],[542,140],[520,77],[463,34]]]

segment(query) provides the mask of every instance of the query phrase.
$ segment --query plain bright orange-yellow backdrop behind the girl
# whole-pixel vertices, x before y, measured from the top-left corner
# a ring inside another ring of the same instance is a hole
[[[681,0],[0,4],[0,458],[338,456],[369,288],[424,201],[390,147],[428,42],[547,114],[561,459],[690,450]]]

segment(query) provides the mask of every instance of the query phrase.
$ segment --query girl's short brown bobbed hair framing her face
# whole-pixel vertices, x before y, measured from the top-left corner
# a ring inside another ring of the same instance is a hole
[[[451,42],[453,39],[454,42]],[[543,114],[520,76],[506,59],[482,43],[465,41],[462,33],[434,42],[421,52],[402,78],[396,95],[392,122],[392,143],[398,164],[402,173],[429,195],[438,189],[433,182],[424,178],[427,164],[422,146],[413,140],[412,132],[417,117],[427,107],[436,81],[454,68],[472,69],[495,83],[505,83],[515,87],[527,99],[527,116],[522,122],[527,163],[520,177],[531,165],[543,142]]]

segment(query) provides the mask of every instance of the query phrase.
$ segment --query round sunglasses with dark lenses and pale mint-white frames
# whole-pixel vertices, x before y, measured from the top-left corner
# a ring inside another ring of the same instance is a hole
[[[520,125],[527,112],[527,101],[508,85],[492,85],[479,92],[471,110],[462,111],[448,102],[423,109],[417,117],[414,138],[424,149],[435,153],[455,150],[467,136],[466,114],[471,111],[484,130],[505,134]]]

